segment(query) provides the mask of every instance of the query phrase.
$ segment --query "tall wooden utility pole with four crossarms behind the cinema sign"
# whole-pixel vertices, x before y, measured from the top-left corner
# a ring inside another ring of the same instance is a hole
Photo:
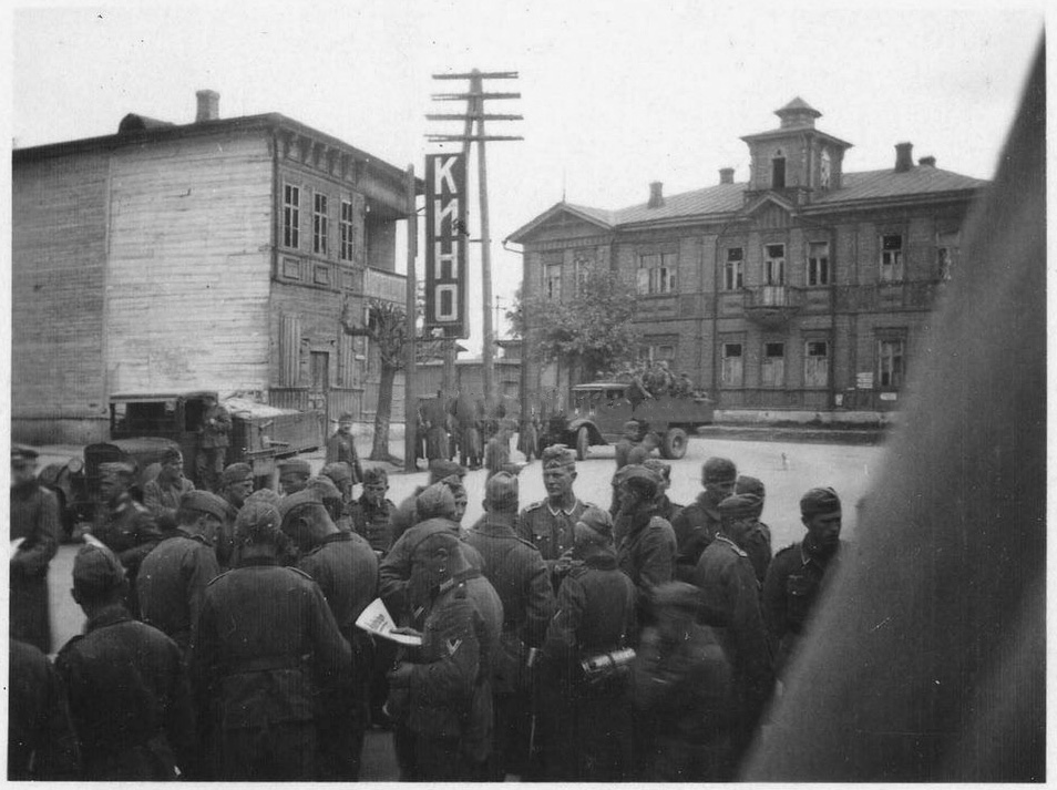
[[[484,367],[484,400],[489,404],[495,400],[494,383],[494,337],[492,328],[492,245],[489,234],[489,193],[488,193],[488,157],[484,151],[484,144],[488,141],[513,141],[524,140],[521,136],[511,135],[489,135],[484,129],[485,121],[521,121],[522,115],[511,115],[501,113],[486,113],[484,102],[489,99],[521,99],[520,93],[496,93],[485,92],[485,80],[516,80],[516,71],[481,72],[474,69],[470,73],[463,74],[433,74],[434,80],[469,80],[470,88],[465,93],[434,93],[437,101],[465,101],[465,114],[458,113],[433,113],[427,115],[428,121],[463,121],[463,133],[459,134],[428,134],[431,143],[462,143],[462,152],[466,161],[470,156],[470,144],[478,144],[478,189],[480,195],[481,212],[481,286],[482,286],[482,328],[484,330],[484,345],[481,350],[481,361]],[[474,124],[476,132],[474,133]]]

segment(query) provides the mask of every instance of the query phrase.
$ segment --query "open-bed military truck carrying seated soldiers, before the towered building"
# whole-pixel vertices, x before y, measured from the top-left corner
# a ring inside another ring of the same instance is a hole
[[[714,420],[715,403],[701,396],[653,396],[635,392],[628,381],[595,381],[573,388],[572,414],[552,417],[547,442],[576,449],[584,460],[592,447],[605,445],[624,435],[629,420],[639,423],[642,433],[654,433],[666,459],[686,455],[690,433]],[[633,398],[630,396],[637,394]]]

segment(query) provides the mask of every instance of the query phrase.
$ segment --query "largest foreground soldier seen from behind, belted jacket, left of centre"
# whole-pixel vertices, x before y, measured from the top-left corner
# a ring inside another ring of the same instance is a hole
[[[224,781],[311,781],[315,697],[351,673],[352,653],[322,591],[278,564],[275,506],[247,502],[235,522],[236,566],[206,587],[192,677],[206,743]]]

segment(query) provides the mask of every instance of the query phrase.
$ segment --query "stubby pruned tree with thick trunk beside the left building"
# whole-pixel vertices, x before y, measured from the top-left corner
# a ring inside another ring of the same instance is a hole
[[[367,326],[363,326],[356,322],[352,305],[346,297],[341,307],[341,328],[346,335],[369,338],[378,348],[381,360],[370,460],[401,464],[403,461],[389,452],[389,421],[392,414],[392,384],[397,371],[403,369],[403,347],[408,338],[407,312],[391,301],[370,299],[367,302]]]

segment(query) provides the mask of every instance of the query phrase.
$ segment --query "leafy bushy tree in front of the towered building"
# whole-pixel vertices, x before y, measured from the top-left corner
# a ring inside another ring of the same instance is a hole
[[[635,288],[609,270],[592,270],[572,299],[543,295],[519,299],[506,316],[513,332],[528,340],[528,353],[545,362],[564,362],[574,381],[589,381],[635,359],[639,335]]]

